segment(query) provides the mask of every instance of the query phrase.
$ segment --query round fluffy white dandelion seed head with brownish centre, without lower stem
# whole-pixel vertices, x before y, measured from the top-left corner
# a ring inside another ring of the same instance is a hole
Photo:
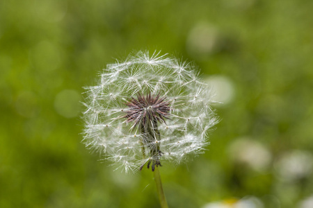
[[[217,119],[211,90],[192,64],[140,51],[108,64],[99,77],[86,87],[88,148],[126,172],[202,153]]]

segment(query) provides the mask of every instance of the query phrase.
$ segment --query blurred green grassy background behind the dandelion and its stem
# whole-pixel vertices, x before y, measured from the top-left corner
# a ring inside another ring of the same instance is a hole
[[[161,168],[170,207],[250,196],[313,207],[313,1],[0,1],[0,207],[159,207],[152,173],[81,144],[82,87],[114,58],[198,64],[220,123],[205,154]],[[233,204],[234,205],[234,204]]]

